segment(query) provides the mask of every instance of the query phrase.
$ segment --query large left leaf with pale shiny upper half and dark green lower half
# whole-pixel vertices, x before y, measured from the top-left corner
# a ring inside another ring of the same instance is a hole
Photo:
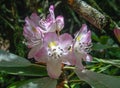
[[[27,59],[0,50],[0,72],[24,76],[47,76],[46,68]]]

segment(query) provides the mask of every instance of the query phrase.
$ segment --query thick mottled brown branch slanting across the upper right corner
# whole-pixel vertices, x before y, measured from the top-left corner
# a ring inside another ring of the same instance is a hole
[[[113,30],[118,28],[118,25],[105,14],[99,6],[94,2],[94,5],[101,11],[93,8],[83,0],[67,0],[68,4],[85,20],[90,22],[98,29],[104,29],[106,33],[115,40],[115,42],[120,46],[119,41],[115,37]],[[92,0],[94,1],[94,0]]]

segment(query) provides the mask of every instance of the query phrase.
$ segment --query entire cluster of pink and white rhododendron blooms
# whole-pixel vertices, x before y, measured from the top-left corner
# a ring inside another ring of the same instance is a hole
[[[62,73],[63,64],[83,70],[82,60],[91,61],[92,57],[88,54],[91,48],[91,31],[83,24],[74,38],[68,33],[60,35],[64,17],[55,18],[53,5],[49,12],[46,19],[40,18],[36,13],[30,18],[26,17],[23,35],[26,45],[31,49],[28,57],[46,63],[48,75],[57,79]]]

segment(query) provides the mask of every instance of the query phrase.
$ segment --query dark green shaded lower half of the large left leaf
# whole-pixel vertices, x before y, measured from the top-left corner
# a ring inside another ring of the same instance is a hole
[[[46,68],[40,65],[26,67],[0,67],[1,72],[23,76],[47,76]]]

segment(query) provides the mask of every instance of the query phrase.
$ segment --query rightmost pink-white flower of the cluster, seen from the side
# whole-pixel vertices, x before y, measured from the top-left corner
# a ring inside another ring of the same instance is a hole
[[[87,25],[83,24],[80,31],[75,35],[75,43],[73,45],[74,54],[76,57],[76,67],[81,70],[84,68],[84,61],[91,61],[92,57],[88,54],[91,48],[91,31],[88,31]]]

